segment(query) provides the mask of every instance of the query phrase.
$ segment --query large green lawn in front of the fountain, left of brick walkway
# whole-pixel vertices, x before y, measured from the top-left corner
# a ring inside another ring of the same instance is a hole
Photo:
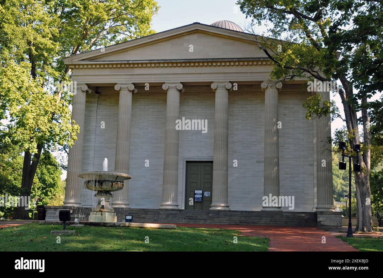
[[[67,226],[68,230],[74,230]],[[61,225],[31,223],[0,229],[0,251],[267,251],[268,239],[242,237],[239,231],[177,227],[76,227],[75,235],[62,235],[61,244],[52,230]],[[233,243],[237,236],[238,243]],[[149,237],[149,243],[145,243]]]

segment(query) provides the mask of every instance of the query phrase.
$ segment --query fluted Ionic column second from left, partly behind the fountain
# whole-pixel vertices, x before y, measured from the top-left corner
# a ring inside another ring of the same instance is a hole
[[[115,85],[115,90],[119,91],[115,172],[129,174],[132,92],[136,89],[132,83],[121,83]],[[125,180],[123,189],[114,194],[113,208],[129,208],[128,196],[129,181]]]

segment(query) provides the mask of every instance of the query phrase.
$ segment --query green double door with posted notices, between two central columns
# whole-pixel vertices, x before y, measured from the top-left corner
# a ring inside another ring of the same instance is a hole
[[[185,209],[210,209],[212,191],[213,162],[186,162]]]

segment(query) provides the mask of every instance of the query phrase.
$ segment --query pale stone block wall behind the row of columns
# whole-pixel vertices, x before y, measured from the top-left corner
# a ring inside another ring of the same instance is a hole
[[[180,118],[207,119],[208,132],[180,131],[178,204],[185,202],[185,162],[213,160],[214,92],[210,85],[185,85]],[[137,87],[132,98],[129,203],[131,208],[159,208],[162,196],[166,93],[160,86]],[[114,169],[118,92],[99,87],[86,100],[83,171],[101,170],[108,159]],[[280,194],[295,197],[293,211],[313,211],[316,205],[315,121],[304,118],[309,96],[301,85],[284,85],[279,93]],[[105,128],[101,128],[101,122]],[[233,160],[238,167],[233,167]],[[149,160],[149,167],[145,167]],[[262,208],[264,171],[264,92],[260,85],[239,85],[229,93],[229,205],[232,210]],[[81,201],[93,207],[95,192],[82,187]],[[284,211],[290,211],[283,208]]]

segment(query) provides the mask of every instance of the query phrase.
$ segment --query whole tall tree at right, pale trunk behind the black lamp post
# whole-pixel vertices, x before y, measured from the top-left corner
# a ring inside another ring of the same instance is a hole
[[[371,206],[367,201],[371,166],[368,98],[382,90],[383,4],[380,0],[239,0],[237,3],[246,16],[252,17],[252,25],[272,23],[268,32],[276,39],[255,36],[260,49],[274,62],[271,78],[309,78],[326,85],[341,84],[335,87],[342,100],[345,125],[352,135],[349,143],[360,144],[362,138],[363,145],[359,157],[362,171],[354,173],[356,231],[372,231]],[[359,91],[354,92],[353,86]],[[318,97],[306,103],[310,108],[308,118],[311,114],[321,117],[331,112],[331,103],[318,106]],[[357,118],[358,111],[362,113],[361,119]],[[358,124],[362,124],[362,131]]]

